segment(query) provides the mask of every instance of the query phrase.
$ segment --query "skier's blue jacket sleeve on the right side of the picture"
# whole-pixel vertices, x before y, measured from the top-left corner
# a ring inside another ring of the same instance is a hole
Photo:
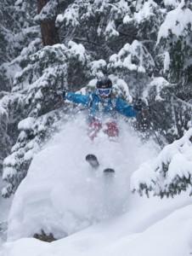
[[[133,106],[129,105],[121,98],[116,99],[116,111],[127,117],[136,117],[138,113],[136,110],[134,110]]]

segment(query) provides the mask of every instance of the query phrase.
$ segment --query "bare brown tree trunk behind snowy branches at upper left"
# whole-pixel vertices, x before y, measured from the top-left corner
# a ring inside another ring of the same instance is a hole
[[[48,3],[49,0],[37,0],[38,14],[40,14],[42,8]],[[41,32],[42,32],[42,44],[53,45],[59,44],[59,33],[55,26],[55,19],[41,21]]]

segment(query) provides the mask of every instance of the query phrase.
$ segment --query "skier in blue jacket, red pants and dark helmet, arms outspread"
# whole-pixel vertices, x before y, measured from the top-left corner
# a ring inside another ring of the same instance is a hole
[[[129,118],[136,117],[142,109],[142,101],[139,99],[133,106],[129,105],[121,97],[112,94],[112,82],[108,77],[97,81],[96,90],[89,95],[76,94],[74,92],[62,92],[65,100],[88,107],[89,137],[93,139],[103,127],[103,119],[116,120],[116,113],[121,113]],[[104,124],[104,132],[109,137],[117,137],[119,130],[115,121],[107,121]]]

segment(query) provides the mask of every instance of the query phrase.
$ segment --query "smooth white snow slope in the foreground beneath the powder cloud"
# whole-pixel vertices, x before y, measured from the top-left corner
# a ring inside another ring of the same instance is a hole
[[[53,243],[34,238],[8,242],[1,256],[184,256],[192,252],[192,206],[175,200],[134,198],[132,209]],[[184,205],[188,205],[184,207]]]

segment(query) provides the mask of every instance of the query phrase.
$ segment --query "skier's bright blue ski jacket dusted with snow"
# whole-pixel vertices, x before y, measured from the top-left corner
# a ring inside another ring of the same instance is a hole
[[[133,108],[133,106],[129,105],[120,97],[102,98],[95,93],[82,95],[74,92],[68,92],[65,95],[65,99],[88,107],[89,117],[93,118],[101,118],[104,115],[116,117],[116,112],[127,117],[135,117],[137,114],[137,111]]]

